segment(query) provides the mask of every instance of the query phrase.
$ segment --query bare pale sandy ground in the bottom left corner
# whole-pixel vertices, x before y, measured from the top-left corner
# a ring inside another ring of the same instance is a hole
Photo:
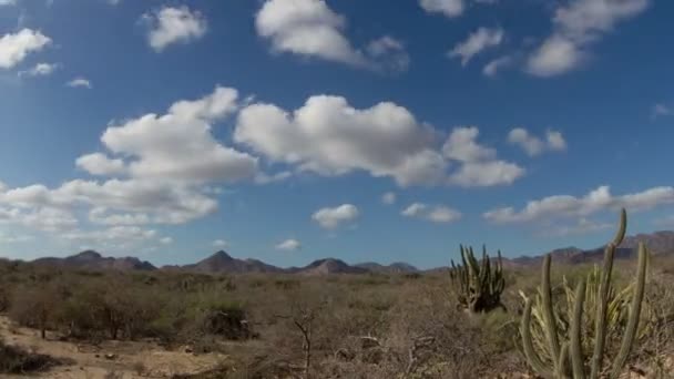
[[[59,341],[48,335],[47,340],[33,329],[18,328],[0,316],[0,336],[8,345],[25,350],[72,360],[69,366],[31,375],[37,378],[57,379],[131,379],[171,378],[214,369],[226,357],[218,354],[195,356],[184,349],[167,351],[153,342],[106,341],[99,346]],[[110,356],[112,355],[112,356]],[[24,376],[0,376],[24,378]]]

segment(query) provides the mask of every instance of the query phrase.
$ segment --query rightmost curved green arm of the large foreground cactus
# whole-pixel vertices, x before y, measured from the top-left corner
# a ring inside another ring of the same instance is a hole
[[[627,356],[634,344],[634,337],[636,336],[636,328],[639,327],[639,318],[641,316],[641,306],[644,300],[645,284],[646,284],[646,268],[649,264],[649,252],[643,243],[639,244],[639,267],[637,267],[637,279],[636,288],[634,289],[634,296],[632,297],[632,306],[630,307],[630,319],[625,328],[625,335],[620,347],[620,351],[613,361],[613,370],[611,371],[611,378],[617,378],[622,371]]]

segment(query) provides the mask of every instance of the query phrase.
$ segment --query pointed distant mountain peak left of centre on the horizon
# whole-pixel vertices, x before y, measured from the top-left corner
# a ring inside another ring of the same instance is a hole
[[[236,259],[224,250],[219,250],[194,265],[181,267],[182,270],[203,274],[247,274],[247,273],[282,273],[283,269],[267,265],[257,259]]]

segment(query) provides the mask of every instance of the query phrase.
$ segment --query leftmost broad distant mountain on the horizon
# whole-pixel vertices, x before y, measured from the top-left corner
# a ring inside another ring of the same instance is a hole
[[[94,250],[85,250],[65,258],[40,258],[33,260],[35,265],[53,267],[71,267],[83,269],[115,269],[115,270],[143,270],[156,269],[151,263],[134,257],[112,258],[103,257]]]

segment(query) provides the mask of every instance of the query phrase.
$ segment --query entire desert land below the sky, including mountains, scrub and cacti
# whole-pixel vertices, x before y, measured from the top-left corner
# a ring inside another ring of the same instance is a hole
[[[530,338],[554,366],[542,294],[554,297],[554,335],[564,340],[575,325],[573,294],[588,286],[579,347],[591,351],[611,254],[603,360],[619,359],[633,328],[617,377],[674,377],[674,233],[619,243],[517,259],[487,250],[480,259],[461,247],[462,263],[423,272],[338,259],[278,268],[222,250],[161,268],[95,252],[3,260],[0,370],[8,378],[545,377],[527,348]],[[653,246],[649,254],[642,244]],[[641,307],[634,325],[632,303]]]

